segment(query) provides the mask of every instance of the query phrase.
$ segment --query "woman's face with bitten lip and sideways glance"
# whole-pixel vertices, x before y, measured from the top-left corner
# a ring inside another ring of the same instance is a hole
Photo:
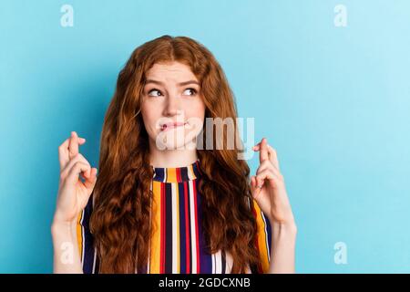
[[[146,79],[141,113],[150,142],[160,150],[195,147],[205,104],[190,67],[179,62],[158,63],[149,69]]]

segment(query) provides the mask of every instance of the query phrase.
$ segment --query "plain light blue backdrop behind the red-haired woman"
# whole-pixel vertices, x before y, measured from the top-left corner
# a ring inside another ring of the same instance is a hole
[[[339,4],[347,26],[334,25]],[[169,34],[210,48],[240,116],[277,149],[297,272],[409,273],[409,28],[406,0],[2,1],[0,272],[52,271],[57,146],[77,130],[97,165],[119,69]]]

